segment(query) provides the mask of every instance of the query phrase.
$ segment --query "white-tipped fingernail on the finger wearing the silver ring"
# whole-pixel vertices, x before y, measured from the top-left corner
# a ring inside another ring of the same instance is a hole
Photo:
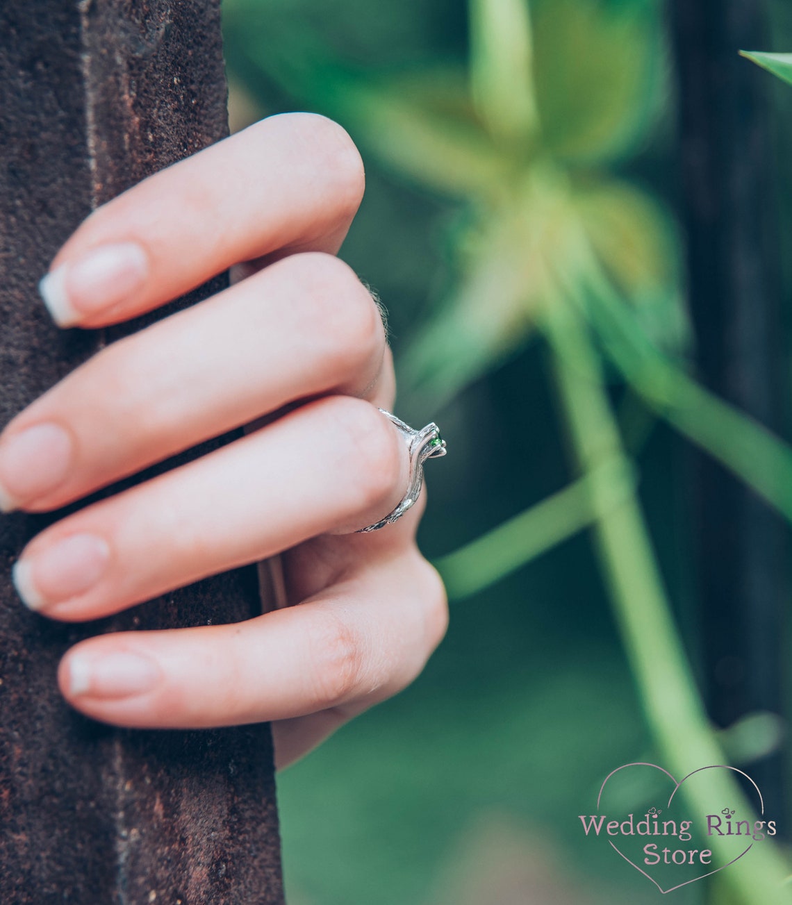
[[[110,547],[93,534],[72,534],[51,547],[23,554],[12,576],[25,606],[41,610],[94,586],[110,562]]]

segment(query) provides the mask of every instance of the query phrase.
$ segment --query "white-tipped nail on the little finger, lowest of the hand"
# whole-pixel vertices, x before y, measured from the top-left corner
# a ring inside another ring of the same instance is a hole
[[[162,678],[156,661],[139,653],[73,653],[68,661],[69,694],[127,698],[151,691]]]

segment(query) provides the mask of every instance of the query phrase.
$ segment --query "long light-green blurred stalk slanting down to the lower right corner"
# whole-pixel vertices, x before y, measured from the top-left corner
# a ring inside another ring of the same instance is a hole
[[[629,462],[606,395],[602,369],[590,338],[571,305],[548,311],[544,329],[554,353],[553,365],[561,408],[577,465],[591,479],[596,498],[609,488],[601,477],[603,462]],[[623,504],[606,508],[596,522],[596,550],[608,586],[616,623],[635,675],[646,719],[664,763],[677,777],[699,767],[726,764],[696,691],[690,665],[673,624],[643,513],[635,493]],[[693,814],[711,813],[720,801],[734,803],[740,814],[751,807],[730,771],[712,771],[702,795],[696,784],[682,786]],[[712,796],[715,796],[713,802]],[[712,836],[716,857],[730,860],[730,840]],[[776,905],[790,900],[781,886],[789,873],[778,848],[764,840],[743,862],[719,874],[744,905],[761,901]]]

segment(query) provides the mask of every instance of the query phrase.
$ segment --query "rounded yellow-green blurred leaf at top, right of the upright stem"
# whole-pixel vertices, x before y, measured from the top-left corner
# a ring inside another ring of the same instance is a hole
[[[654,11],[597,0],[534,5],[534,73],[545,144],[601,164],[644,138],[663,98],[662,29]]]

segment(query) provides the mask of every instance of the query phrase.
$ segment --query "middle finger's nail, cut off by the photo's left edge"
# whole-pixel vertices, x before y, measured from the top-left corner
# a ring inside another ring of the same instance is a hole
[[[72,438],[58,424],[35,424],[0,441],[0,510],[55,490],[72,462]]]

